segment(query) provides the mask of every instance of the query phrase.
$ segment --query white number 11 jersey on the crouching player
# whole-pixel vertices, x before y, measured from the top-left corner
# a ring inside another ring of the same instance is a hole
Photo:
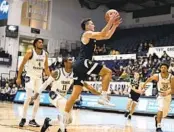
[[[67,73],[64,68],[59,68],[57,71],[58,77],[53,81],[51,91],[65,96],[73,83],[73,72]]]

